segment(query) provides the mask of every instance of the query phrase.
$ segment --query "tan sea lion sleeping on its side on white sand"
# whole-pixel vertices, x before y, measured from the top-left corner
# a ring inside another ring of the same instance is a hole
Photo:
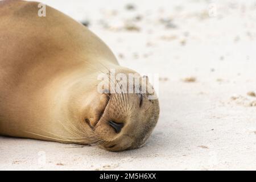
[[[158,121],[158,100],[98,92],[99,74],[136,72],[82,24],[49,6],[40,17],[38,5],[0,2],[0,134],[109,151],[142,146]]]

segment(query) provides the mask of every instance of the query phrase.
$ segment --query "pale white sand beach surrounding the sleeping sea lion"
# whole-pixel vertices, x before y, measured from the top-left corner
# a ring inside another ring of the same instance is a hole
[[[159,123],[146,146],[118,153],[0,137],[0,169],[256,169],[256,1],[43,2],[89,20],[122,65],[159,73]]]

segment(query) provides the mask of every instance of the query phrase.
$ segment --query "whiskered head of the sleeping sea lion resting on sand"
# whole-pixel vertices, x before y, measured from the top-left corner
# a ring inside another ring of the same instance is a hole
[[[119,73],[128,77],[127,70]],[[110,88],[117,86],[114,92],[113,89],[112,92],[104,89],[105,92],[97,93],[96,99],[90,104],[93,106],[91,113],[94,116],[85,118],[85,122],[101,140],[99,146],[105,150],[123,151],[141,147],[158,121],[159,102],[155,98],[154,89],[146,76],[135,74],[140,79],[139,82],[124,82],[122,79],[117,81],[115,78],[115,83],[113,80],[109,82]],[[127,85],[127,88],[123,85]],[[129,86],[134,92],[129,92]]]

